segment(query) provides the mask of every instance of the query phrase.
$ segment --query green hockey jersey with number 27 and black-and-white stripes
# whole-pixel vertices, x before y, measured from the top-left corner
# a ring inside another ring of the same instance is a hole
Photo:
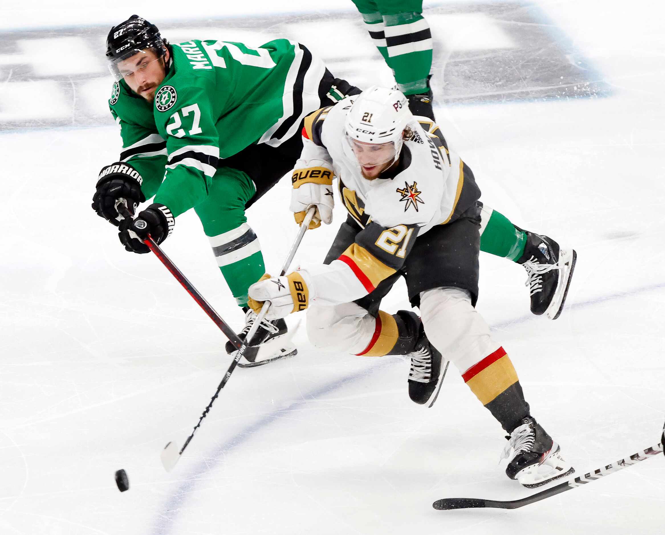
[[[223,158],[299,135],[301,120],[320,106],[325,66],[287,39],[256,49],[198,40],[170,48],[154,102],[121,80],[109,106],[120,126],[120,160],[141,173],[146,198],[155,195],[177,216],[205,199]]]

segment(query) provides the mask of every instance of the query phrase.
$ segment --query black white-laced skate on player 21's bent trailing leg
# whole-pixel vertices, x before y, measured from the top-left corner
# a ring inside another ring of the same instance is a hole
[[[419,405],[429,403],[428,407],[432,407],[444,382],[448,361],[430,344],[422,326],[416,348],[409,356],[411,358],[409,397],[414,403]]]

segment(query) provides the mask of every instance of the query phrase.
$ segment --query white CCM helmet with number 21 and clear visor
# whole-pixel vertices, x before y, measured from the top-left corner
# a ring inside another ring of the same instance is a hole
[[[382,154],[386,155],[382,158],[383,161],[374,163],[392,164],[399,158],[404,141],[402,132],[412,119],[408,100],[401,91],[372,86],[354,99],[346,114],[344,150],[348,156],[352,156],[348,153],[350,150],[357,162],[359,146],[390,144],[390,150],[382,151]],[[361,165],[360,162],[357,163]]]

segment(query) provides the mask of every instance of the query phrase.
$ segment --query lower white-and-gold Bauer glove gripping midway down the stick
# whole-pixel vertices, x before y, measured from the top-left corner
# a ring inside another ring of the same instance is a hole
[[[291,312],[300,312],[309,306],[309,290],[303,276],[293,271],[286,276],[271,278],[269,274],[263,275],[249,286],[249,307],[259,314],[265,301],[271,305],[265,315],[268,320],[285,318]]]

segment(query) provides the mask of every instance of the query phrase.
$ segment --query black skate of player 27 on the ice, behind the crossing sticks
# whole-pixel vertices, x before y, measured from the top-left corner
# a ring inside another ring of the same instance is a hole
[[[245,326],[238,333],[241,340],[245,340],[247,333],[257,319],[257,314],[251,308],[245,306],[243,310],[245,311]],[[253,368],[254,366],[261,366],[262,364],[268,364],[282,358],[296,356],[298,350],[291,344],[288,336],[286,336],[287,332],[289,332],[289,328],[287,328],[287,324],[283,319],[263,320],[251,340],[251,346],[247,347],[243,355],[243,358],[249,364],[239,362],[238,366],[241,368]],[[235,356],[237,348],[231,344],[230,340],[226,342],[225,348],[229,355]]]

